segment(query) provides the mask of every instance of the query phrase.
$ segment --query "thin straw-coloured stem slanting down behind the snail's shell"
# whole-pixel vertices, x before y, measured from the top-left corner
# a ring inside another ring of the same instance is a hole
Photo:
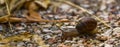
[[[100,21],[101,23],[103,23],[106,27],[111,27],[110,25],[106,24],[105,21],[101,20],[99,17],[91,14],[87,9],[84,9],[84,8],[78,6],[78,5],[75,5],[72,2],[70,2],[70,1],[65,1],[65,0],[63,1],[63,0],[61,0],[60,2],[66,3],[68,5],[71,5],[71,6],[75,7],[75,8],[81,9],[82,11],[87,12],[88,14],[92,15],[93,17],[95,17],[98,21]]]

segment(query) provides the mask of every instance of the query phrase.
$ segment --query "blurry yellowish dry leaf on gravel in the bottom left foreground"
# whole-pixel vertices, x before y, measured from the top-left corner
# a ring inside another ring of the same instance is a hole
[[[28,34],[28,33],[23,33],[23,34],[19,34],[19,35],[4,38],[4,39],[0,40],[0,43],[6,43],[5,45],[2,45],[2,47],[5,47],[5,46],[8,46],[7,44],[11,41],[30,41],[31,37],[32,37],[33,40],[35,40],[35,42],[39,46],[49,47],[49,46],[45,45],[44,41],[42,40],[42,38],[40,36],[31,35],[31,34]]]

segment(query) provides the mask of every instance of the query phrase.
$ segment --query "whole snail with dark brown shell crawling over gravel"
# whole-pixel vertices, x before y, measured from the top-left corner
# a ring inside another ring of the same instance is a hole
[[[68,37],[76,37],[80,34],[83,35],[94,35],[97,33],[95,31],[97,27],[97,21],[91,17],[83,17],[79,20],[75,28],[70,29],[69,32],[63,32],[62,39],[67,39]]]

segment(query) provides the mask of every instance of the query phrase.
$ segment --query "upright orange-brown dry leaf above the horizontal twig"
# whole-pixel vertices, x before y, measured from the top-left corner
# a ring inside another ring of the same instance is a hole
[[[26,5],[28,5],[28,7],[29,7],[28,8],[29,15],[26,16],[27,20],[28,21],[40,21],[42,19],[40,14],[38,14],[38,12],[34,11],[37,9],[36,4],[34,2],[27,2]]]

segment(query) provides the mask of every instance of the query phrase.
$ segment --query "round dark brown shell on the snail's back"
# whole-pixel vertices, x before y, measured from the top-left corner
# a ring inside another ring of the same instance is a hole
[[[76,29],[80,34],[91,34],[97,27],[97,21],[91,17],[82,18],[76,25]]]

